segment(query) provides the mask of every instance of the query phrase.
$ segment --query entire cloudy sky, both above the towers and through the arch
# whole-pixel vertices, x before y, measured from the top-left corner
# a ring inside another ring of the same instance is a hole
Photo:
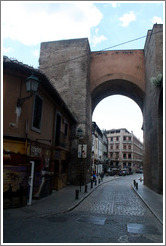
[[[91,51],[143,49],[145,38],[128,41],[146,36],[155,23],[165,23],[164,4],[1,1],[1,50],[9,58],[38,68],[41,42],[88,38]],[[116,95],[102,100],[94,110],[93,121],[100,129],[127,128],[143,140],[141,110],[127,97]]]

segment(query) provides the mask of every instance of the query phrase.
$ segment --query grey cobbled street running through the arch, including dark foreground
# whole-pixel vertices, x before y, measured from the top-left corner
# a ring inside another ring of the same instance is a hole
[[[132,181],[130,175],[99,186],[71,212],[4,220],[4,243],[162,243],[162,225]]]

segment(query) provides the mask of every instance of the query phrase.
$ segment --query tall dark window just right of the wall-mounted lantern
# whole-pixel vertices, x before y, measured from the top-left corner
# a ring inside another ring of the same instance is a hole
[[[32,129],[38,132],[40,132],[41,129],[42,107],[43,107],[43,100],[39,95],[35,95],[33,118],[32,118]]]

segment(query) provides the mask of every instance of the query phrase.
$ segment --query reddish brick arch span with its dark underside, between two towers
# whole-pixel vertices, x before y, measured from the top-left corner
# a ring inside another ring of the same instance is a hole
[[[90,86],[92,112],[110,95],[133,99],[143,111],[145,69],[143,50],[119,50],[91,53]]]

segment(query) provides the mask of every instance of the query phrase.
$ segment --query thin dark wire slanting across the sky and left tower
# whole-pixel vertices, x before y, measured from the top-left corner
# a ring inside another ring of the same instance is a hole
[[[102,50],[95,51],[95,52],[102,52],[102,51],[105,51],[105,50],[108,50],[108,49],[112,49],[112,48],[115,48],[115,47],[120,46],[120,45],[123,45],[123,44],[128,44],[128,43],[137,41],[137,40],[139,40],[139,39],[146,38],[146,37],[148,37],[148,36],[154,35],[154,34],[159,33],[159,32],[162,32],[162,31],[158,31],[158,32],[154,32],[154,33],[152,32],[152,33],[147,34],[147,35],[145,35],[145,36],[142,36],[142,37],[139,37],[139,38],[135,38],[135,39],[132,39],[132,40],[129,40],[129,41],[120,43],[120,44],[116,44],[116,45],[113,45],[113,46],[110,46],[110,47],[107,47],[107,48],[104,48],[104,49],[102,49]],[[54,64],[54,65],[52,65],[52,66],[44,67],[44,69],[46,69],[46,68],[50,69],[50,68],[52,68],[52,67],[59,66],[59,65],[61,65],[61,64],[64,64],[64,63],[67,63],[67,62],[70,62],[70,61],[74,61],[74,60],[77,60],[77,59],[80,59],[80,58],[86,57],[86,56],[88,56],[88,55],[77,56],[77,57],[71,58],[71,59],[69,59],[69,60],[66,60],[66,61],[63,61],[63,62],[59,62],[59,63],[57,63],[57,64]]]

